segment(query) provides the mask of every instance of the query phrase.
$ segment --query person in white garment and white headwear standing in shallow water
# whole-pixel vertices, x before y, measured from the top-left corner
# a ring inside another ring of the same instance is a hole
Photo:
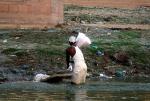
[[[73,84],[83,84],[86,81],[87,65],[80,48],[76,45],[76,37],[69,38],[69,47],[66,49],[67,68],[72,70]]]

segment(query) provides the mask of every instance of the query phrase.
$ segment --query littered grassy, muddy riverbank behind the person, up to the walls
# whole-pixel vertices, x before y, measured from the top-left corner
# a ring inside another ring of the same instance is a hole
[[[81,48],[90,78],[100,73],[149,78],[149,12],[146,7],[66,6],[65,22],[56,28],[1,29],[0,81],[30,81],[37,73],[66,71],[65,49],[73,30],[86,33],[92,40],[90,46]]]

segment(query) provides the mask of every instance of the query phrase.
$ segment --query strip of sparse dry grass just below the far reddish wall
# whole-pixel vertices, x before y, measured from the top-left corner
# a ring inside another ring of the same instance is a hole
[[[79,12],[80,11],[80,12]],[[76,14],[76,13],[77,14]],[[150,24],[150,10],[65,6],[65,20],[86,23]]]

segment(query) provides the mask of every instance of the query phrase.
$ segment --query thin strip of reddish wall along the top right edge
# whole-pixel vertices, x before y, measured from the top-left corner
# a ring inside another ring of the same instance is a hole
[[[135,8],[139,6],[150,7],[150,0],[64,0],[64,3],[81,6],[98,6],[114,8]]]

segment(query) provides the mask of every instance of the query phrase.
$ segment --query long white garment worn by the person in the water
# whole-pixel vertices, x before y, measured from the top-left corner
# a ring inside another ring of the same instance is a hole
[[[75,84],[85,83],[87,74],[87,65],[84,56],[79,47],[75,47],[76,54],[73,56],[74,68],[72,75],[72,82]]]

